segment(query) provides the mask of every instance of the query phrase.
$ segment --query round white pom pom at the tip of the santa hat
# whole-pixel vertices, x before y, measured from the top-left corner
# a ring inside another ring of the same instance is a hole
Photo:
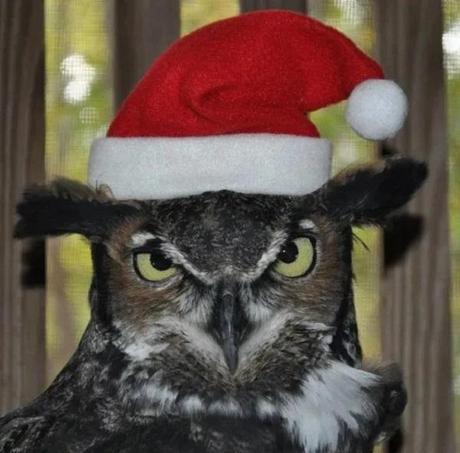
[[[407,98],[392,80],[371,79],[355,87],[348,98],[345,116],[361,137],[383,140],[401,129],[407,115]]]

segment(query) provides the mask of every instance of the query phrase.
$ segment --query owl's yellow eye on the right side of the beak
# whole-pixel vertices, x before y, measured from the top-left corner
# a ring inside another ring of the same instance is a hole
[[[275,271],[285,277],[301,277],[313,269],[315,261],[314,239],[298,237],[283,246],[275,264]]]

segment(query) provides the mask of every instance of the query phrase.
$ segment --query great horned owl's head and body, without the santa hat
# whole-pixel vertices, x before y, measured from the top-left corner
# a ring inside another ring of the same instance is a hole
[[[0,452],[372,451],[405,392],[397,367],[361,363],[352,227],[425,176],[392,158],[303,196],[31,188],[16,236],[88,239],[91,319],[52,385],[0,419]]]

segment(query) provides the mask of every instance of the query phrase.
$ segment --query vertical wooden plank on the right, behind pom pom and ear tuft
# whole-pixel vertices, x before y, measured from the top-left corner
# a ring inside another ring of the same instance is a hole
[[[382,347],[402,365],[409,405],[402,446],[449,453],[453,437],[447,119],[442,0],[375,0],[380,60],[410,100],[406,127],[389,143],[424,160],[429,179],[384,234]]]

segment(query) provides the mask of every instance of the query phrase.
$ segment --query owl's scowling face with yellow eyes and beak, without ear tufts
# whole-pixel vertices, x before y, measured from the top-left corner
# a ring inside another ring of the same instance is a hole
[[[351,277],[350,228],[315,197],[222,191],[138,207],[104,242],[102,263],[128,348],[162,332],[200,351],[206,337],[234,372],[265,326],[274,337],[276,323],[332,332]]]

